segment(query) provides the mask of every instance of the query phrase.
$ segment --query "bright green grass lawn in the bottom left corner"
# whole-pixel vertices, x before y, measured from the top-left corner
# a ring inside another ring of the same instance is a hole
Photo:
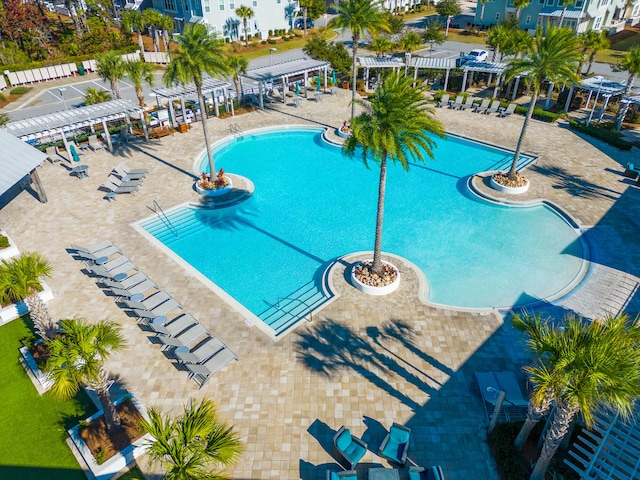
[[[22,319],[0,327],[0,478],[82,480],[65,439],[95,407],[84,391],[65,402],[38,395],[19,361],[20,339],[31,335]]]

